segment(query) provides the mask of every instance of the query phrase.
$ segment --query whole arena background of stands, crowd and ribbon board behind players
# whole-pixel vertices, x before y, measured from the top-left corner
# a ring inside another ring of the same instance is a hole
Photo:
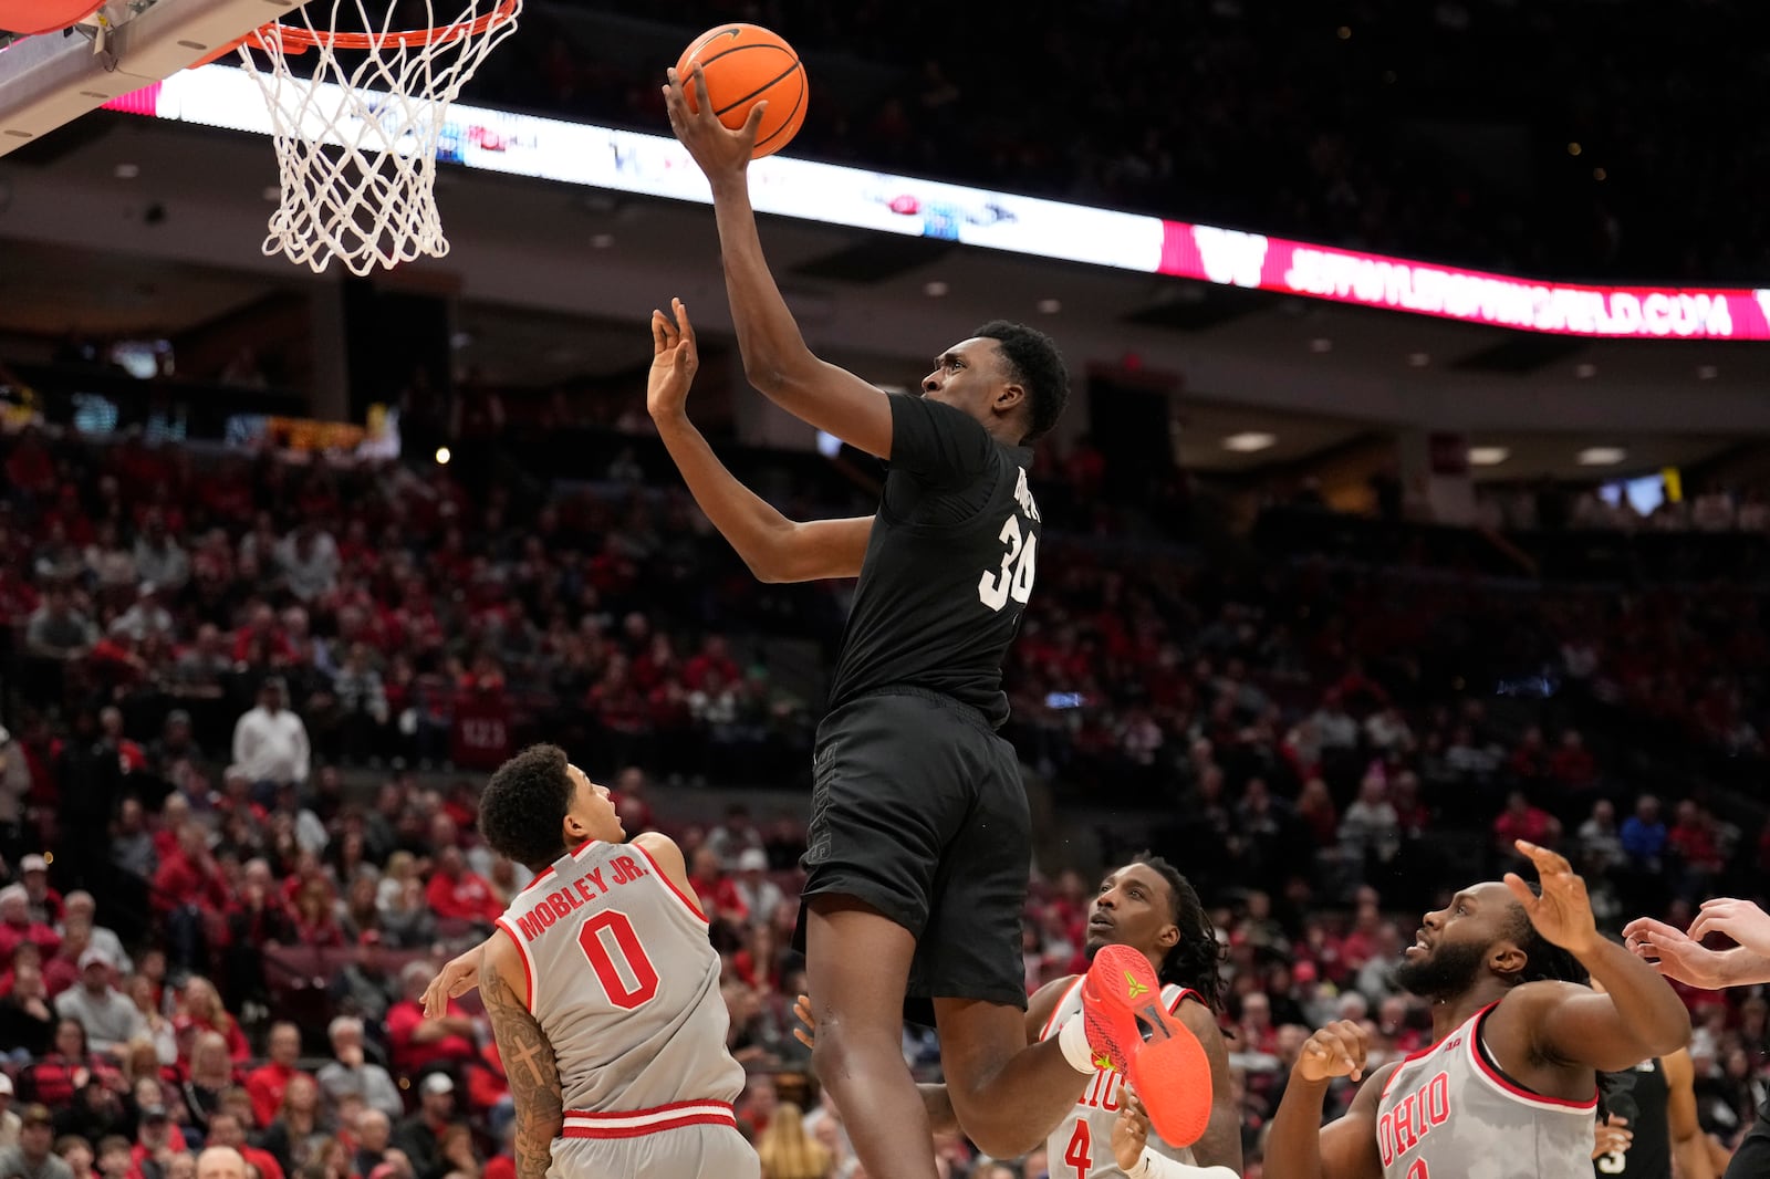
[[[680,296],[738,478],[793,519],[878,501],[745,382],[667,138],[664,69],[729,19],[809,78],[752,186],[811,347],[915,391],[1005,317],[1069,363],[1004,682],[1028,991],[1087,968],[1104,871],[1179,867],[1251,1179],[1313,1029],[1365,1023],[1374,1066],[1432,1041],[1395,967],[1528,875],[1515,839],[1618,940],[1763,903],[1756,5],[529,0],[450,115],[446,258],[264,257],[230,58],[0,154],[0,1167],[42,1119],[69,1163],[0,1179],[193,1179],[214,1144],[513,1179],[483,1007],[414,1000],[529,880],[476,802],[542,740],[681,844],[765,1175],[864,1177],[789,949],[853,582],[758,581],[646,412]],[[1770,1006],[1678,991],[1719,1175]],[[931,1030],[903,1053],[938,1080]]]

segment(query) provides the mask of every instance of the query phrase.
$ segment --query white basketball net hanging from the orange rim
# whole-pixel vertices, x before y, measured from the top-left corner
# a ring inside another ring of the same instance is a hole
[[[435,202],[448,104],[515,32],[522,0],[466,0],[446,23],[435,21],[439,2],[450,0],[421,0],[428,28],[396,30],[395,12],[414,2],[379,0],[386,12],[373,16],[372,0],[333,0],[327,25],[301,9],[301,23],[267,25],[241,46],[271,108],[281,175],[264,253],[315,273],[336,258],[352,274],[448,253]],[[292,60],[312,62],[312,76],[292,73]]]

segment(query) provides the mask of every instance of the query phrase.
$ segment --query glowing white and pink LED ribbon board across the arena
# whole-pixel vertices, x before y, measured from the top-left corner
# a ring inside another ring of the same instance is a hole
[[[182,71],[106,108],[271,135],[251,78],[227,66]],[[481,172],[712,204],[689,154],[658,135],[457,103],[439,158]],[[781,156],[750,165],[750,196],[759,212],[825,225],[1519,331],[1770,340],[1770,290],[1543,283]]]

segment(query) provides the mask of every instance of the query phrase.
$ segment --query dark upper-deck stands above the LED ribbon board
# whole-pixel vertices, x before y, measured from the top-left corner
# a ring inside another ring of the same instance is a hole
[[[1770,243],[1765,147],[1713,119],[1766,81],[1743,4],[581,7],[531,5],[473,94],[662,133],[655,46],[758,21],[807,58],[811,158],[1563,278],[1747,281]]]

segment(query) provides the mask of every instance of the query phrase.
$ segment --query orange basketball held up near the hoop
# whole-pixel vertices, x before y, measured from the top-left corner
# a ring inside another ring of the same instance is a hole
[[[694,66],[701,66],[708,97],[719,120],[736,131],[750,117],[750,108],[768,99],[763,124],[756,129],[752,159],[786,147],[805,122],[805,66],[786,41],[761,25],[720,25],[701,34],[681,51],[676,76],[689,99],[689,110],[701,110]]]

